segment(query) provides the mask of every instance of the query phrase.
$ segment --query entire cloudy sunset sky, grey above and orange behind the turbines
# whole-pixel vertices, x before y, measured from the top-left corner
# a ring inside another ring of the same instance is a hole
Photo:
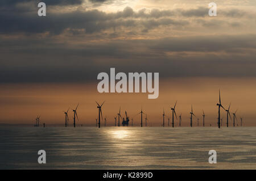
[[[44,0],[45,17],[38,2],[0,2],[0,123],[41,115],[61,124],[63,111],[80,103],[81,124],[93,125],[95,100],[106,100],[109,125],[120,106],[130,117],[143,107],[160,125],[163,108],[170,113],[178,100],[184,125],[191,104],[216,125],[220,89],[225,107],[256,125],[255,1],[216,0],[217,16],[209,16],[209,1]],[[97,75],[110,68],[159,73],[159,98],[100,94]]]

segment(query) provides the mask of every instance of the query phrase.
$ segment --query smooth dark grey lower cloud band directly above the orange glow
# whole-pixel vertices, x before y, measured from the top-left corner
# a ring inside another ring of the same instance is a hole
[[[2,83],[90,82],[112,67],[126,73],[159,72],[161,78],[256,76],[256,35],[116,40],[80,46],[51,38],[9,41],[0,44]]]

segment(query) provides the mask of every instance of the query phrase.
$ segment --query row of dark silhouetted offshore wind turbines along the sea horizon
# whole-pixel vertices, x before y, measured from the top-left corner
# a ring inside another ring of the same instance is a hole
[[[231,106],[231,103],[229,104],[229,107],[228,107],[228,109],[226,110],[223,106],[222,106],[222,104],[221,104],[221,92],[220,92],[220,90],[218,91],[218,103],[217,103],[217,106],[218,106],[218,118],[217,118],[217,123],[215,124],[218,128],[221,128],[222,127],[222,118],[220,118],[221,117],[221,113],[220,113],[220,108],[222,108],[225,112],[226,112],[226,127],[229,127],[229,117],[230,117],[230,119],[232,119],[232,117],[230,116],[230,112],[229,112],[229,110],[230,110],[230,106]],[[98,128],[101,128],[101,120],[102,121],[104,121],[104,127],[106,127],[107,126],[107,120],[106,120],[106,116],[105,116],[105,118],[103,118],[103,114],[102,114],[102,106],[103,106],[103,104],[105,103],[105,100],[104,100],[104,102],[100,105],[97,101],[96,101],[96,104],[97,104],[97,109],[98,109],[98,115],[97,115],[97,117],[96,117],[96,127],[98,127]],[[182,127],[181,126],[181,115],[182,115],[182,112],[180,113],[180,115],[179,115],[179,121],[178,121],[178,119],[177,119],[177,115],[176,115],[176,111],[175,111],[175,108],[176,108],[176,105],[177,105],[177,100],[176,100],[176,102],[175,102],[175,104],[174,104],[174,106],[170,106],[170,117],[172,117],[172,123],[171,123],[171,127],[172,128],[174,128],[174,127]],[[107,106],[107,105],[105,105],[105,106]],[[77,116],[77,108],[79,107],[79,104],[77,104],[77,106],[76,106],[76,108],[75,108],[75,110],[73,110],[73,127],[75,128],[76,127],[76,119],[77,119],[77,121],[79,121],[79,118],[78,118],[78,116]],[[64,126],[65,127],[68,127],[69,126],[69,117],[68,117],[68,111],[69,111],[69,108],[68,108],[68,110],[67,111],[63,111],[64,112],[64,114],[65,114],[65,116],[64,116]],[[197,117],[194,113],[193,113],[193,106],[191,105],[191,112],[189,113],[191,116],[190,116],[190,127],[192,128],[193,127],[193,117],[196,117],[196,120],[197,120],[197,127],[205,127],[205,113],[204,113],[204,110],[202,109],[202,111],[203,111],[203,115],[202,115],[202,123],[201,124],[199,124],[199,120],[200,120],[200,118],[199,117]],[[236,116],[236,113],[237,113],[237,110],[236,111],[234,111],[234,113],[232,113],[233,114],[233,127],[238,127],[239,125],[240,125],[240,127],[242,127],[242,122],[243,122],[243,120],[242,120],[242,117],[240,118],[240,123],[238,123],[238,120],[237,120],[237,116]],[[183,112],[183,114],[184,114],[184,112]],[[147,116],[148,115],[150,115],[150,113],[145,113],[145,112],[143,112],[143,109],[141,108],[141,111],[140,112],[138,112],[137,114],[135,114],[132,118],[131,118],[131,125],[129,124],[130,123],[130,117],[127,115],[127,111],[125,110],[125,113],[123,114],[123,116],[122,116],[122,113],[121,113],[121,106],[119,107],[119,112],[117,113],[117,116],[116,115],[113,115],[113,123],[109,123],[108,124],[108,127],[120,127],[120,126],[122,126],[122,127],[129,127],[129,126],[131,126],[131,127],[134,127],[134,122],[133,122],[133,120],[134,119],[136,119],[136,117],[138,117],[138,115],[141,115],[140,117],[141,117],[141,121],[140,121],[140,126],[141,127],[147,127],[148,126],[148,124],[147,124],[147,122],[148,122],[148,118],[147,118]],[[145,116],[144,117],[144,123],[143,123],[143,115]],[[170,117],[168,117],[167,115],[166,115],[166,113],[164,112],[164,108],[163,108],[163,114],[162,114],[162,116],[163,116],[163,120],[162,120],[162,123],[161,123],[161,121],[159,122],[159,126],[161,126],[161,127],[166,127],[166,124],[165,124],[165,118],[167,117],[168,118],[168,126],[167,127],[170,127]],[[174,119],[174,116],[175,116],[175,119]],[[34,125],[34,127],[40,127],[40,124],[39,124],[39,122],[40,122],[40,115],[38,115],[37,117],[36,117],[36,119],[35,119],[35,125]],[[118,120],[117,120],[117,118],[118,118]],[[213,124],[213,127],[214,127],[214,121],[208,121],[208,125],[210,126],[210,127],[212,127],[212,124]],[[44,124],[41,124],[41,126],[42,125],[44,125]],[[81,124],[82,125],[82,124]],[[144,126],[143,126],[144,125]],[[139,126],[139,124],[137,123],[137,126]],[[152,126],[152,125],[150,125],[150,126]],[[44,125],[44,127],[45,127],[45,125]]]

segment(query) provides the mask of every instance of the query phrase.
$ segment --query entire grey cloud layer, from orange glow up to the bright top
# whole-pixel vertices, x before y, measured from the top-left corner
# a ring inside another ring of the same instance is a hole
[[[104,1],[90,1],[102,3]],[[1,1],[0,82],[94,81],[100,71],[255,77],[254,12],[208,6],[86,9],[88,1]],[[104,6],[104,5],[102,5]]]

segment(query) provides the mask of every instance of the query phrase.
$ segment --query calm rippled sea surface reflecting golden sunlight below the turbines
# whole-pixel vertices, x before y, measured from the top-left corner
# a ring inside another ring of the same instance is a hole
[[[0,127],[0,169],[256,169],[256,128]]]

